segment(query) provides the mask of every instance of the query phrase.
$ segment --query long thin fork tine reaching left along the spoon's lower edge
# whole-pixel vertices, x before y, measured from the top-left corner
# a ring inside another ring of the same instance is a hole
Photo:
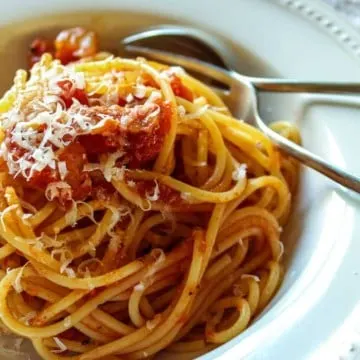
[[[231,86],[233,78],[229,71],[223,70],[215,65],[210,65],[204,61],[189,58],[182,55],[175,55],[167,51],[154,50],[147,47],[125,45],[125,50],[131,53],[165,62],[167,64],[178,65],[183,67],[185,70],[190,70],[201,74],[212,80],[216,80],[222,84]]]

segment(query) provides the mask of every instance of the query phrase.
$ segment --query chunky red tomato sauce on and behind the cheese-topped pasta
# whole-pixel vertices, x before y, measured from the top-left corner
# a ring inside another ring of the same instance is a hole
[[[45,52],[52,54],[54,58],[66,65],[84,57],[94,56],[98,52],[97,36],[92,31],[76,27],[61,31],[53,41],[37,38],[30,47],[31,66],[39,61]],[[150,76],[147,74],[143,74],[143,76],[145,85],[158,88]],[[169,77],[175,95],[192,101],[193,93],[182,83],[181,79],[175,74],[170,74]],[[60,97],[66,109],[70,108],[76,99],[80,104],[85,105],[82,111],[95,123],[101,122],[107,115],[109,121],[103,121],[102,127],[91,133],[80,133],[75,139],[70,138],[70,135],[65,135],[63,140],[69,141],[70,144],[64,149],[59,150],[51,145],[53,151],[58,153],[57,161],[65,162],[66,175],[61,178],[57,168],[52,169],[47,166],[42,171],[34,171],[30,179],[26,179],[30,187],[45,191],[50,183],[64,181],[71,187],[71,199],[73,200],[84,200],[88,196],[104,198],[111,196],[115,189],[104,179],[100,170],[84,171],[86,164],[99,163],[102,154],[121,151],[124,152],[124,155],[117,160],[117,166],[125,165],[131,169],[141,169],[152,165],[170,131],[173,115],[170,103],[159,99],[155,103],[144,104],[144,99],[138,99],[135,96],[134,101],[128,104],[119,96],[117,105],[90,106],[90,99],[86,91],[76,88],[72,81],[59,81],[58,86],[61,89]],[[127,119],[125,123],[124,116]],[[45,130],[46,125],[37,129],[40,133]],[[26,158],[27,151],[11,143],[11,134],[8,134],[7,142],[8,148],[15,158]],[[30,161],[34,160],[30,159]],[[143,196],[146,193],[151,194],[154,188],[153,182],[138,182],[136,186]],[[64,205],[71,199],[58,200]],[[160,201],[174,205],[183,203],[177,191],[162,184],[160,185]]]

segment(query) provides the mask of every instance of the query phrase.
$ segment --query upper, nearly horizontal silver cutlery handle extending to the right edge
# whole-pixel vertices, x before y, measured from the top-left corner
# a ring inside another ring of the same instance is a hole
[[[299,81],[292,79],[266,79],[255,77],[249,77],[248,80],[250,80],[259,91],[322,94],[360,93],[360,83]]]

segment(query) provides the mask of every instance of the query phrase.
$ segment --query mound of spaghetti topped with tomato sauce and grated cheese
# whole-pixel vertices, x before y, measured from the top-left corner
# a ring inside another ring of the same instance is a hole
[[[298,167],[212,89],[44,54],[0,111],[0,315],[42,358],[193,358],[274,296]]]

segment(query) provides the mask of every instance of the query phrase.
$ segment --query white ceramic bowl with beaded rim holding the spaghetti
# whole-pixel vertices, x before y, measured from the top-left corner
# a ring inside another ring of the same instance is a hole
[[[0,88],[25,66],[36,35],[86,26],[101,34],[105,48],[116,50],[125,34],[164,22],[224,37],[246,74],[360,81],[360,37],[315,0],[12,0],[0,12]],[[296,122],[306,147],[360,174],[356,98],[338,98],[333,106],[319,96],[264,95],[260,107],[264,119]],[[304,169],[295,203],[283,233],[287,272],[279,293],[248,330],[204,360],[355,356],[359,200]]]

